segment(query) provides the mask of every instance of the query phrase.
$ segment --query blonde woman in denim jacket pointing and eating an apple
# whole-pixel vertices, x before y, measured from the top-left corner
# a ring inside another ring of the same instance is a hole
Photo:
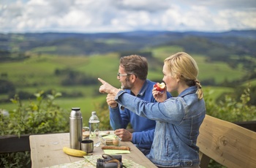
[[[196,143],[206,105],[197,80],[197,64],[187,53],[176,53],[165,59],[162,72],[166,89],[159,92],[153,88],[155,103],[131,96],[101,79],[99,92],[115,95],[116,102],[125,108],[157,122],[147,155],[157,167],[199,167]],[[166,91],[177,91],[178,96],[167,99]]]

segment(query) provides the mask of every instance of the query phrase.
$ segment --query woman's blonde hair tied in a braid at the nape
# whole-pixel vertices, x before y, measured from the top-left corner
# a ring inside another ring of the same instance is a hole
[[[167,65],[170,75],[179,77],[189,86],[196,85],[197,97],[198,99],[203,99],[202,86],[197,80],[198,66],[189,54],[184,52],[176,53],[166,58],[164,63]]]

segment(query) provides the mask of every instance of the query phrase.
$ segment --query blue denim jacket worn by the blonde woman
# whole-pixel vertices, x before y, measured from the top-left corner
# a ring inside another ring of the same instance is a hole
[[[184,90],[178,97],[162,103],[145,102],[119,91],[116,102],[125,108],[157,121],[154,141],[148,154],[159,167],[190,167],[200,164],[197,147],[199,127],[206,115],[203,99],[198,99],[195,86]]]

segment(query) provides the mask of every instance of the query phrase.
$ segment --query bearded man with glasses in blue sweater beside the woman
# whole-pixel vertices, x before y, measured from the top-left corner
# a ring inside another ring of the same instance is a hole
[[[147,102],[156,102],[152,95],[155,83],[147,80],[147,75],[148,62],[145,57],[132,55],[120,58],[117,79],[121,88]],[[170,97],[170,93],[167,93],[167,97]],[[110,126],[115,130],[115,134],[122,141],[131,141],[147,155],[154,139],[156,122],[119,106],[112,95],[108,94],[107,102],[110,109]],[[134,132],[127,130],[129,123]]]

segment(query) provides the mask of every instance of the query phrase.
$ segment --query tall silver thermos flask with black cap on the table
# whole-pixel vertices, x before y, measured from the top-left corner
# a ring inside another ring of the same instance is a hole
[[[80,150],[83,137],[83,117],[80,107],[72,107],[69,117],[69,142],[70,148]]]

